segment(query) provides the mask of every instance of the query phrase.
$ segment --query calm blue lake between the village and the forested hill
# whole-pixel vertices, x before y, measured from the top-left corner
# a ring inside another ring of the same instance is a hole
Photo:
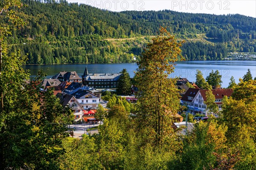
[[[189,81],[195,81],[196,70],[202,71],[204,78],[209,73],[219,70],[222,75],[222,87],[227,87],[231,76],[234,76],[236,83],[242,78],[247,69],[250,69],[253,78],[256,77],[256,61],[179,61],[176,63],[175,72],[170,76],[180,76]],[[106,63],[106,64],[56,64],[56,65],[24,65],[24,69],[29,69],[31,76],[35,76],[38,70],[43,69],[47,73],[47,78],[52,78],[60,71],[76,71],[78,75],[83,75],[87,66],[89,73],[118,73],[122,69],[127,69],[130,76],[134,76],[134,71],[138,68],[136,63]]]

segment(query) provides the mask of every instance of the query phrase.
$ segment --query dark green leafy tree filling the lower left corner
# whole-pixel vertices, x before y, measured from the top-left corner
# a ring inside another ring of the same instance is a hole
[[[68,135],[65,118],[72,111],[62,107],[51,89],[42,92],[38,82],[40,79],[23,84],[4,107],[6,119],[0,136],[4,168],[58,169],[57,159],[64,151],[61,139]]]

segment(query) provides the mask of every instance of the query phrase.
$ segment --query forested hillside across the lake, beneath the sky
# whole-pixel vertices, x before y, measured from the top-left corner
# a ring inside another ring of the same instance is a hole
[[[186,60],[256,52],[256,18],[239,14],[110,12],[63,0],[23,0],[19,15],[26,25],[13,31],[8,43],[10,50],[28,55],[28,64],[132,62],[160,26],[186,40]]]

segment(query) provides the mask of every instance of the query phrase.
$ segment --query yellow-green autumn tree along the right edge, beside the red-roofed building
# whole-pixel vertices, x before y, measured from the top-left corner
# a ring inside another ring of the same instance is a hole
[[[241,81],[232,94],[223,100],[222,116],[227,125],[230,147],[239,152],[236,169],[254,169],[256,165],[256,81]]]

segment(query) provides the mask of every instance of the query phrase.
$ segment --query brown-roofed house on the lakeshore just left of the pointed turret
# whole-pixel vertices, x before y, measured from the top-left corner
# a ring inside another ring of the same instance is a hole
[[[57,78],[59,81],[68,81],[68,82],[81,82],[82,78],[76,72],[59,72],[57,75],[52,78]]]

